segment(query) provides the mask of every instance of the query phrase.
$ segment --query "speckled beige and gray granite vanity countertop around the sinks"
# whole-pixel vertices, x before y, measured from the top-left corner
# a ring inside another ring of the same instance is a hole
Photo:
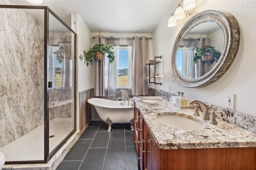
[[[256,147],[256,133],[216,118],[217,125],[212,125],[200,116],[194,116],[194,109],[179,109],[173,101],[152,104],[143,100],[157,99],[160,97],[134,97],[138,109],[154,141],[160,149],[200,149],[200,148],[233,148],[233,147]],[[168,127],[157,119],[161,115],[183,115],[190,117],[204,125],[200,131],[185,131]],[[209,114],[209,117],[211,115]]]

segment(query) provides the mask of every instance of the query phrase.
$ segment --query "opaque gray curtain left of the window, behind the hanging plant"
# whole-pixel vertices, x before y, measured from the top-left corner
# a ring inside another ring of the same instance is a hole
[[[101,43],[104,44],[104,38],[101,36]],[[99,36],[95,35],[95,44],[99,43]],[[106,96],[104,82],[104,60],[95,60],[94,62],[94,96]]]

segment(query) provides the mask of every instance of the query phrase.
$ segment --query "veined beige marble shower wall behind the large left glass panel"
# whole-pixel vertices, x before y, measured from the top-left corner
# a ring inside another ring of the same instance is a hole
[[[44,26],[21,9],[1,8],[0,18],[0,147],[4,147],[44,123]]]

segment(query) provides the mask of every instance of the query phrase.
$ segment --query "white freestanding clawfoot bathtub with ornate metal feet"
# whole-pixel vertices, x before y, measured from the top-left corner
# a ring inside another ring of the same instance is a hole
[[[90,98],[87,102],[95,107],[100,118],[108,124],[108,132],[111,131],[111,125],[114,123],[130,123],[133,127],[134,107],[131,106],[129,100]]]

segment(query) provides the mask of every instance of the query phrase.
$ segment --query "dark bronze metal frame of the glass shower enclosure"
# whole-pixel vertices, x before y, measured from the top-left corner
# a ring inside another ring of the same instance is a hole
[[[38,164],[47,163],[64,143],[76,132],[76,36],[77,34],[61,20],[48,6],[22,6],[22,5],[1,5],[0,8],[12,9],[38,9],[44,10],[44,160],[26,160],[26,161],[6,161],[5,164]],[[57,145],[51,152],[49,152],[49,81],[48,81],[48,60],[49,60],[49,13],[51,13],[57,20],[59,20],[66,28],[74,33],[74,129]]]

